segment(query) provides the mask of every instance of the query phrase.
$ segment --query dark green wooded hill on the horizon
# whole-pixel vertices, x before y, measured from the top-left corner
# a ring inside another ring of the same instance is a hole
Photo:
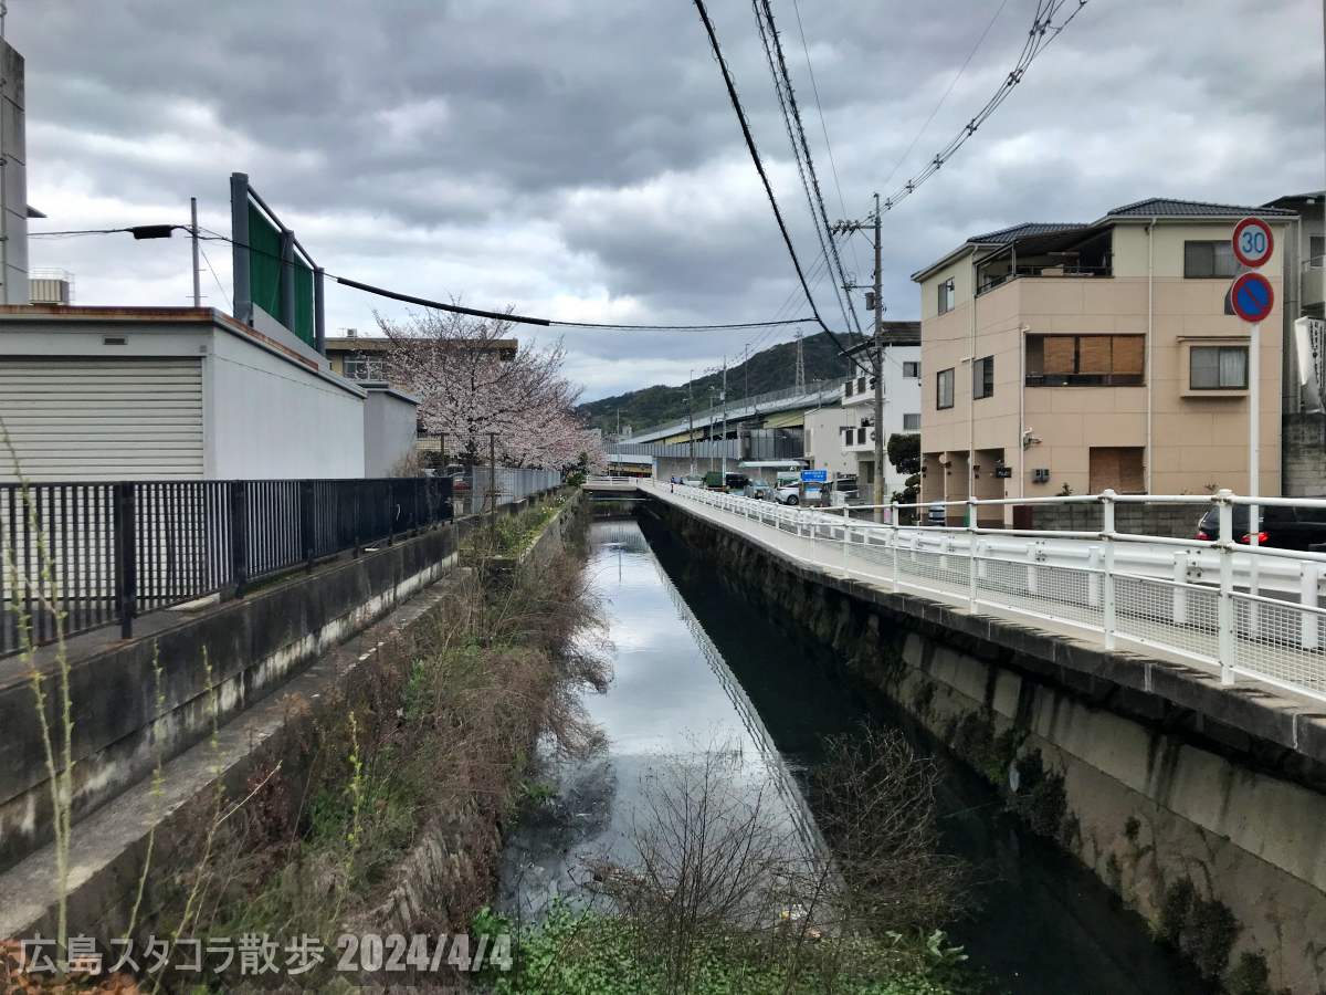
[[[847,375],[847,360],[838,354],[838,346],[823,332],[808,336],[801,342],[806,362],[806,381],[834,379]],[[796,383],[796,342],[780,342],[768,349],[761,349],[745,362],[739,362],[728,367],[728,398],[744,397],[748,390],[751,394],[764,394],[769,390],[790,387]],[[749,387],[747,386],[748,383]],[[713,395],[717,397],[717,390],[721,385],[721,373],[696,377],[691,383],[695,410],[703,411],[709,407],[709,387],[715,389]],[[621,425],[630,425],[633,429],[640,430],[659,422],[686,418],[686,395],[687,386],[684,383],[676,387],[659,383],[652,387],[642,387],[626,394],[590,401],[581,405],[577,411],[590,425],[602,429],[605,434],[617,431],[618,413],[621,413]]]

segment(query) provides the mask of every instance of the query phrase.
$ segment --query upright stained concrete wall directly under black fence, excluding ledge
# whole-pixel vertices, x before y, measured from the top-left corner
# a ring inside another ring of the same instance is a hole
[[[501,505],[499,513],[516,513],[536,500]],[[480,521],[459,519],[198,614],[158,620],[155,628],[149,622],[158,617],[149,616],[141,628],[150,634],[127,642],[81,655],[72,647],[74,823],[147,777],[158,759],[170,760],[206,739],[213,695],[221,722],[228,722],[436,581]],[[0,665],[3,870],[50,841],[52,801],[27,663],[12,657]],[[57,679],[46,673],[44,682],[53,731],[61,728]]]

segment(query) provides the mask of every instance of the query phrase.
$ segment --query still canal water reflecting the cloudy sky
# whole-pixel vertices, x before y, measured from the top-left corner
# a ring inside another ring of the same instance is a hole
[[[719,584],[662,527],[634,519],[590,527],[593,586],[605,601],[614,679],[586,694],[606,748],[550,765],[557,799],[512,833],[500,903],[537,915],[574,894],[586,858],[626,856],[642,777],[660,758],[736,743],[786,797],[825,735],[861,720],[892,723],[944,775],[941,845],[973,868],[977,907],[949,935],[1010,992],[1109,995],[1204,988],[1078,864],[1020,829],[993,789],[923,730],[838,667],[833,654]],[[646,532],[648,535],[646,535]],[[796,795],[793,787],[793,795]]]

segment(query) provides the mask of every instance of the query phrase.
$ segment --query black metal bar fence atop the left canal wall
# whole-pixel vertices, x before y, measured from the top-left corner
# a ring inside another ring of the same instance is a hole
[[[447,478],[0,484],[0,655],[447,521]]]

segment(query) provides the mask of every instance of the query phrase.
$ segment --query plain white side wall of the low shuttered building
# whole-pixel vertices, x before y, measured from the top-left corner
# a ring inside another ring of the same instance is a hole
[[[363,391],[224,332],[203,375],[210,478],[365,475]]]

